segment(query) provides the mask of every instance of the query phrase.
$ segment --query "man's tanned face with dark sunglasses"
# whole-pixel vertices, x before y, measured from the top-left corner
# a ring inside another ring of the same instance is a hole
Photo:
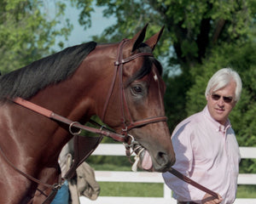
[[[230,82],[226,87],[211,91],[207,95],[207,107],[214,120],[224,125],[230,115],[230,111],[235,107],[236,82]]]

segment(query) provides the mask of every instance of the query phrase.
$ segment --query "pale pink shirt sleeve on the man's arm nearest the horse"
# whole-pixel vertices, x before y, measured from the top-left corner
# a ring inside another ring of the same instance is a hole
[[[187,123],[177,127],[172,134],[172,145],[176,155],[176,162],[173,165],[178,172],[190,178],[193,173],[193,150],[191,146],[191,134],[193,129]],[[205,192],[187,184],[172,173],[163,173],[167,186],[174,192],[177,201],[199,201],[201,202]]]

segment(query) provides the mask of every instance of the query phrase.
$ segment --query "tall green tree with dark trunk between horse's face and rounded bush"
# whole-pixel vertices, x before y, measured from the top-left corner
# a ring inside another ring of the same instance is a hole
[[[79,22],[84,28],[91,25],[94,5],[104,7],[105,17],[116,18],[116,24],[103,31],[101,36],[94,37],[99,42],[131,37],[148,22],[148,35],[166,26],[154,54],[165,59],[165,103],[171,129],[188,116],[185,112],[189,99],[186,93],[195,83],[195,73],[201,76],[205,71],[206,68],[200,66],[204,59],[223,43],[237,45],[246,42],[252,34],[256,8],[253,0],[71,1],[82,9]],[[179,74],[173,76],[172,73],[177,71]]]

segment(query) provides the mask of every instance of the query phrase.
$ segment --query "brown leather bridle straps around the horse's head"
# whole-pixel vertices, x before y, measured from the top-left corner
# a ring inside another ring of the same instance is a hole
[[[140,127],[143,125],[147,125],[149,123],[154,123],[154,122],[166,122],[167,117],[166,116],[152,116],[148,117],[142,120],[138,121],[133,121],[131,118],[131,114],[125,99],[125,88],[124,88],[124,83],[123,83],[123,65],[125,63],[128,63],[132,61],[133,59],[137,59],[139,57],[144,57],[144,56],[149,56],[153,57],[153,54],[149,53],[138,53],[138,54],[133,54],[125,59],[123,59],[123,48],[125,42],[127,42],[127,39],[124,39],[122,42],[119,43],[119,48],[117,52],[117,58],[116,61],[114,62],[115,70],[114,70],[114,75],[113,75],[113,81],[111,83],[111,87],[108,91],[107,95],[107,100],[105,102],[103,111],[102,111],[102,122],[104,122],[105,116],[106,116],[106,111],[108,109],[108,103],[111,95],[113,94],[113,86],[117,80],[117,77],[119,77],[119,97],[120,97],[120,104],[121,104],[121,122],[123,124],[122,127],[122,134],[123,135],[128,135],[128,131],[131,130],[134,127]],[[127,116],[129,119],[126,120],[125,116]]]

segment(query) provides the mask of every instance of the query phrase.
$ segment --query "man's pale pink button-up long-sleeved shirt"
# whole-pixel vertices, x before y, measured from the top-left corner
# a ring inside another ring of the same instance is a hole
[[[241,156],[230,121],[225,126],[216,122],[206,106],[177,125],[172,144],[176,153],[173,168],[221,195],[222,204],[235,201]],[[163,173],[163,178],[177,201],[201,203],[206,194],[171,173]]]

